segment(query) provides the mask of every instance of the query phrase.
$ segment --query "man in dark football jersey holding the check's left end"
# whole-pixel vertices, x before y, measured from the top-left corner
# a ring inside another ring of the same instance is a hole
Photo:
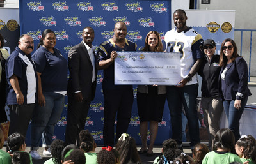
[[[113,146],[122,133],[126,133],[133,103],[131,85],[114,84],[114,62],[118,51],[136,51],[137,45],[125,38],[127,27],[124,22],[116,22],[113,38],[104,41],[98,49],[100,68],[104,69],[102,84],[104,94],[104,145]],[[115,118],[117,113],[116,137]]]

